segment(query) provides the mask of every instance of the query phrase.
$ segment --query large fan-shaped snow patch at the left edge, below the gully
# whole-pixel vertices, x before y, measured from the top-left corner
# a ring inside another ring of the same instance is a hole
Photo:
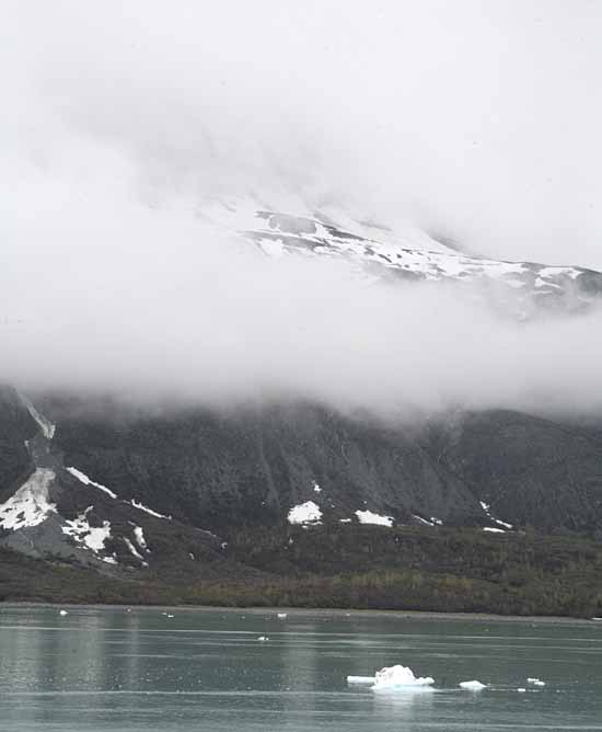
[[[53,470],[37,468],[16,493],[0,505],[0,527],[16,531],[37,526],[49,514],[56,513],[56,505],[48,497],[48,488],[54,479]]]

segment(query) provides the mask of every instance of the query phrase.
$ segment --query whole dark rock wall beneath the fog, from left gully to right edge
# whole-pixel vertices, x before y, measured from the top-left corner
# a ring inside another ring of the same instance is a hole
[[[326,522],[369,510],[397,523],[485,525],[483,501],[519,526],[602,527],[601,433],[519,412],[419,431],[310,404],[57,421],[66,465],[204,528],[282,523],[305,501]]]

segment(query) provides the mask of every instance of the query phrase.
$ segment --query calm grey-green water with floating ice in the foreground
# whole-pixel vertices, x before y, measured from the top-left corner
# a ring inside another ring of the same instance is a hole
[[[0,730],[602,730],[602,622],[170,613],[0,606]],[[436,689],[347,686],[394,663]]]

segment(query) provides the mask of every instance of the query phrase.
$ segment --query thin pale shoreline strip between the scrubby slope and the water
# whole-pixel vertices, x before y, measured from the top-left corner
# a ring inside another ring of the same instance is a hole
[[[130,609],[135,610],[177,610],[178,613],[244,613],[246,615],[277,615],[278,613],[286,613],[287,615],[319,615],[322,617],[391,617],[397,619],[415,619],[415,620],[475,620],[475,621],[490,621],[490,622],[526,622],[526,624],[571,624],[571,625],[597,625],[600,624],[602,628],[602,620],[594,620],[593,618],[571,618],[567,616],[554,615],[495,615],[490,613],[439,613],[435,610],[378,610],[378,609],[352,609],[352,608],[321,608],[321,607],[230,607],[217,605],[114,605],[100,603],[36,603],[32,601],[22,602],[2,602],[0,603],[0,613],[4,608],[82,608],[82,609]]]

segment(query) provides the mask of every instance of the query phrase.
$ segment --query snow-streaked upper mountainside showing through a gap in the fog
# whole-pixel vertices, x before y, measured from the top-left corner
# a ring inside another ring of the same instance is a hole
[[[602,299],[602,273],[577,266],[505,262],[455,251],[426,233],[400,240],[393,232],[345,215],[292,215],[254,203],[216,202],[206,220],[256,244],[267,256],[329,258],[374,282],[470,285],[520,318],[576,312]]]

